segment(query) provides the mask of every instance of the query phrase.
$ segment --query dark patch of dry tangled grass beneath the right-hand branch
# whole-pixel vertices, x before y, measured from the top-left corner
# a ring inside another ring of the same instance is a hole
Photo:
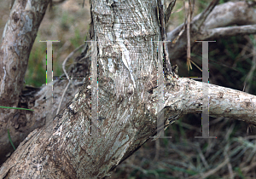
[[[217,139],[195,139],[200,122],[199,115],[180,118],[166,130],[172,139],[148,141],[110,178],[256,178],[255,128],[247,137],[247,124],[211,118]]]

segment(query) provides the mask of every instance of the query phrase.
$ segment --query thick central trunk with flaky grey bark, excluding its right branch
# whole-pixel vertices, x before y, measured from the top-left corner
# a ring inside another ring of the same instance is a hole
[[[61,116],[20,144],[2,166],[2,177],[103,177],[154,135],[154,102],[148,102],[145,87],[156,76],[158,43],[154,41],[160,39],[156,4],[91,4],[93,40],[98,41],[98,115],[105,118],[98,123],[100,137],[90,136],[86,82]]]

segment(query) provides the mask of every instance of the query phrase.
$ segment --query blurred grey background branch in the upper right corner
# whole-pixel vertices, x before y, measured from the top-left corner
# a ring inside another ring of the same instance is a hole
[[[216,3],[216,2],[215,2]],[[211,3],[209,7],[213,7],[215,3]],[[212,8],[208,8],[211,10]],[[224,30],[223,34],[227,34],[229,28],[227,29],[215,29],[218,27],[225,26],[234,26],[234,30],[236,32],[231,32],[230,35],[237,34],[247,34],[247,32],[255,32],[255,24],[256,24],[256,9],[249,7],[246,2],[228,2],[223,3],[218,6],[215,6],[212,9],[210,14],[208,11],[205,15],[198,14],[191,22],[191,47],[195,45],[195,40],[206,40],[207,38],[218,38],[218,33],[221,33],[219,30]],[[208,15],[207,15],[208,14]],[[207,16],[207,19],[205,20]],[[201,25],[201,21],[204,23]],[[237,26],[242,26],[241,28]],[[251,26],[244,26],[251,25]],[[198,28],[201,26],[201,28]],[[167,33],[167,41],[171,41],[172,43],[167,43],[170,60],[175,60],[178,58],[182,58],[186,53],[187,47],[187,36],[186,32],[183,32],[182,36],[175,41],[178,33],[182,31],[183,24],[177,26],[172,32]],[[173,43],[176,42],[176,43]]]

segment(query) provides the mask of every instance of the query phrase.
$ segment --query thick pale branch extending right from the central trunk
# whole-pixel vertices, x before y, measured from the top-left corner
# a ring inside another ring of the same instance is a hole
[[[172,88],[172,86],[177,86]],[[208,89],[208,97],[202,98],[202,87]],[[202,103],[209,100],[209,115],[234,118],[256,125],[256,96],[214,84],[206,84],[189,78],[172,79],[166,84],[165,107],[170,113],[201,113]]]

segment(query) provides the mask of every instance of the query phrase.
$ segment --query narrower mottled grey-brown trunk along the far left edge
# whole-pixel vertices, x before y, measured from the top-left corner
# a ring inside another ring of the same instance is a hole
[[[0,106],[17,107],[23,89],[28,57],[49,0],[15,1],[0,44]],[[32,112],[0,109],[0,164],[12,152],[7,129],[17,146],[33,129],[42,126],[26,120]]]

